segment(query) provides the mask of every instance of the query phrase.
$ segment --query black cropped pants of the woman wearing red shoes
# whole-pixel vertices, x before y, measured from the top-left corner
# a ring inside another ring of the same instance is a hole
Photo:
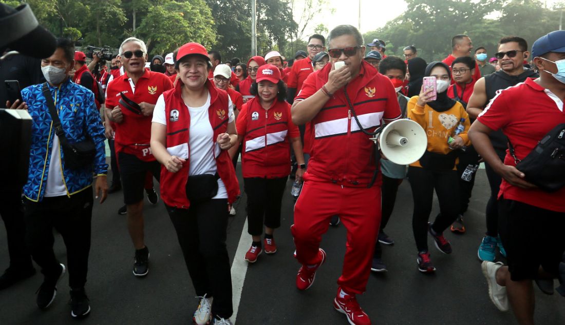
[[[247,194],[247,232],[251,236],[263,234],[265,226],[281,226],[282,194],[288,176],[281,178],[244,178]]]

